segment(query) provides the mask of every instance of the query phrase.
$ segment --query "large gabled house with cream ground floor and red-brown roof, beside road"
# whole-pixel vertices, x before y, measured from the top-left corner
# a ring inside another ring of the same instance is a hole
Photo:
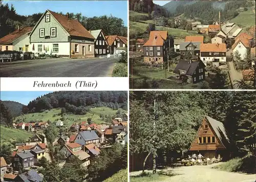
[[[47,10],[30,34],[33,53],[94,57],[94,37],[69,14]]]

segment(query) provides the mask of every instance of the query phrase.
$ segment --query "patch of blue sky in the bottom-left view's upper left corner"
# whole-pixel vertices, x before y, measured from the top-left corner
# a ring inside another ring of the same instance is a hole
[[[7,92],[3,91],[1,92],[0,99],[2,101],[16,101],[19,103],[22,103],[24,105],[28,105],[29,101],[32,101],[36,99],[39,96],[52,93],[52,92],[21,92],[21,91],[13,91],[13,92]]]

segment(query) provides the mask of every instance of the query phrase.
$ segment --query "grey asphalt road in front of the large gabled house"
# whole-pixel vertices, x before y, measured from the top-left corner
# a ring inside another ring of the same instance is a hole
[[[111,77],[118,58],[35,59],[0,63],[1,77]]]

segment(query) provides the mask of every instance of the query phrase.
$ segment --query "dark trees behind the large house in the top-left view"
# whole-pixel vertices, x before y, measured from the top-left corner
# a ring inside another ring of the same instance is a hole
[[[8,3],[4,5],[2,4],[2,0],[0,0],[0,37],[13,32],[18,26],[35,26],[43,13],[44,12],[38,12],[28,16],[18,15],[13,5],[10,6]],[[62,12],[58,13],[63,14]],[[121,18],[106,15],[86,17],[81,13],[74,14],[72,12],[69,12],[69,16],[81,22],[87,30],[102,29],[105,35],[127,36],[127,27],[123,25]]]

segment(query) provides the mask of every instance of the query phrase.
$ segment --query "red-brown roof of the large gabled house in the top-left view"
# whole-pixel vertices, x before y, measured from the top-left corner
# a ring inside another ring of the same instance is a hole
[[[47,10],[59,22],[59,24],[70,34],[75,36],[95,39],[94,36],[75,19]]]

